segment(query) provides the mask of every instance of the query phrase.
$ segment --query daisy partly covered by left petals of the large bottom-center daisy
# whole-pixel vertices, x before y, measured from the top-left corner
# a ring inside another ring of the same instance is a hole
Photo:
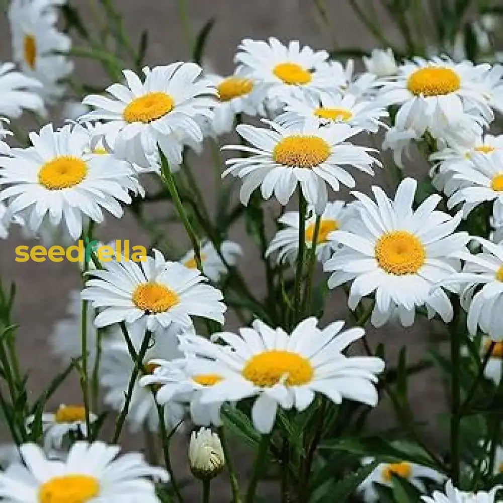
[[[187,404],[191,420],[198,426],[222,426],[220,420],[221,402],[202,403],[201,398],[208,387],[214,386],[232,376],[227,367],[214,360],[188,356],[179,360],[152,360],[158,365],[155,371],[140,379],[142,386],[157,388],[155,399],[159,405],[172,402]]]

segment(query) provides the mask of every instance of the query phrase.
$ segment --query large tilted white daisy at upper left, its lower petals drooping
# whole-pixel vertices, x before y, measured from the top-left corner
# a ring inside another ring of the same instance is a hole
[[[86,97],[83,104],[95,110],[80,121],[104,121],[102,135],[121,159],[148,168],[157,162],[159,146],[170,165],[179,165],[183,146],[203,141],[198,120],[213,117],[216,90],[201,72],[195,63],[145,66],[142,82],[136,73],[124,70],[127,86],[108,87],[111,98]]]

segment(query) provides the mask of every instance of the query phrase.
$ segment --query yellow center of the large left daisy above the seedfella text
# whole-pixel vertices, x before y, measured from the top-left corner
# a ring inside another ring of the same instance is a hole
[[[46,189],[69,189],[86,178],[88,166],[78,157],[61,155],[46,162],[38,172],[38,181]]]

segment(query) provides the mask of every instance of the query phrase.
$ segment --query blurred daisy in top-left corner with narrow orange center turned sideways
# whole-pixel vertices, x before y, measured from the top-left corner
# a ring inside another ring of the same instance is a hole
[[[9,9],[14,60],[28,77],[42,82],[37,92],[50,104],[63,95],[62,81],[73,69],[73,63],[61,54],[68,52],[71,40],[56,29],[53,6],[13,0]]]

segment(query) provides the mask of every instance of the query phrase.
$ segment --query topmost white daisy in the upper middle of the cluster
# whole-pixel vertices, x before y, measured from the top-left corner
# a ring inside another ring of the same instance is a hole
[[[274,37],[268,42],[244,39],[238,51],[234,61],[266,88],[273,109],[289,96],[302,98],[333,88],[326,51],[313,51],[308,46],[301,49],[297,40],[287,47]]]

